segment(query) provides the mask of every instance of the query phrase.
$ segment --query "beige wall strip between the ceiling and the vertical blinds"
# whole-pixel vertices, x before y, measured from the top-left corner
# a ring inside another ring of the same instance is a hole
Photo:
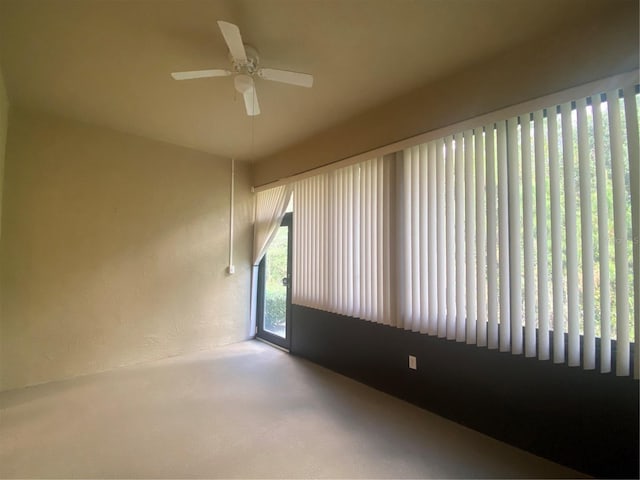
[[[504,107],[638,68],[637,1],[608,15],[516,45],[267,158],[259,186]],[[429,46],[446,48],[446,45]]]

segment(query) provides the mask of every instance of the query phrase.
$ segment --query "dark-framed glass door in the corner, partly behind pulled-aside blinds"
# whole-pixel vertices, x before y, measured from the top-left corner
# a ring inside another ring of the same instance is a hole
[[[287,213],[258,274],[258,337],[287,350],[291,344],[291,223]]]

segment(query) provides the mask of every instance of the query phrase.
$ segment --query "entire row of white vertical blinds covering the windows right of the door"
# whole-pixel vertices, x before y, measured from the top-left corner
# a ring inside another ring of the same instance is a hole
[[[296,182],[293,301],[637,376],[639,95],[622,87]]]

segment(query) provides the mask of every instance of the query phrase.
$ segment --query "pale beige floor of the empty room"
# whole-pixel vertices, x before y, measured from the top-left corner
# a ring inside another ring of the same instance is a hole
[[[256,341],[0,393],[0,475],[580,476]]]

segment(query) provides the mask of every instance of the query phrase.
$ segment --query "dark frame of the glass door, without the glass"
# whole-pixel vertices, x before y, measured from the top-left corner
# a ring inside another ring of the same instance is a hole
[[[280,223],[280,227],[288,227],[287,232],[287,295],[286,295],[286,313],[285,313],[285,338],[282,338],[278,335],[274,335],[271,332],[267,332],[262,327],[264,323],[264,301],[265,301],[265,262],[267,259],[267,255],[269,250],[265,253],[264,257],[260,261],[260,265],[258,266],[258,294],[256,296],[257,305],[256,305],[256,337],[261,340],[265,340],[269,343],[272,343],[286,351],[289,351],[291,348],[291,265],[292,265],[292,252],[293,252],[293,213],[287,212],[282,218],[282,222]]]

